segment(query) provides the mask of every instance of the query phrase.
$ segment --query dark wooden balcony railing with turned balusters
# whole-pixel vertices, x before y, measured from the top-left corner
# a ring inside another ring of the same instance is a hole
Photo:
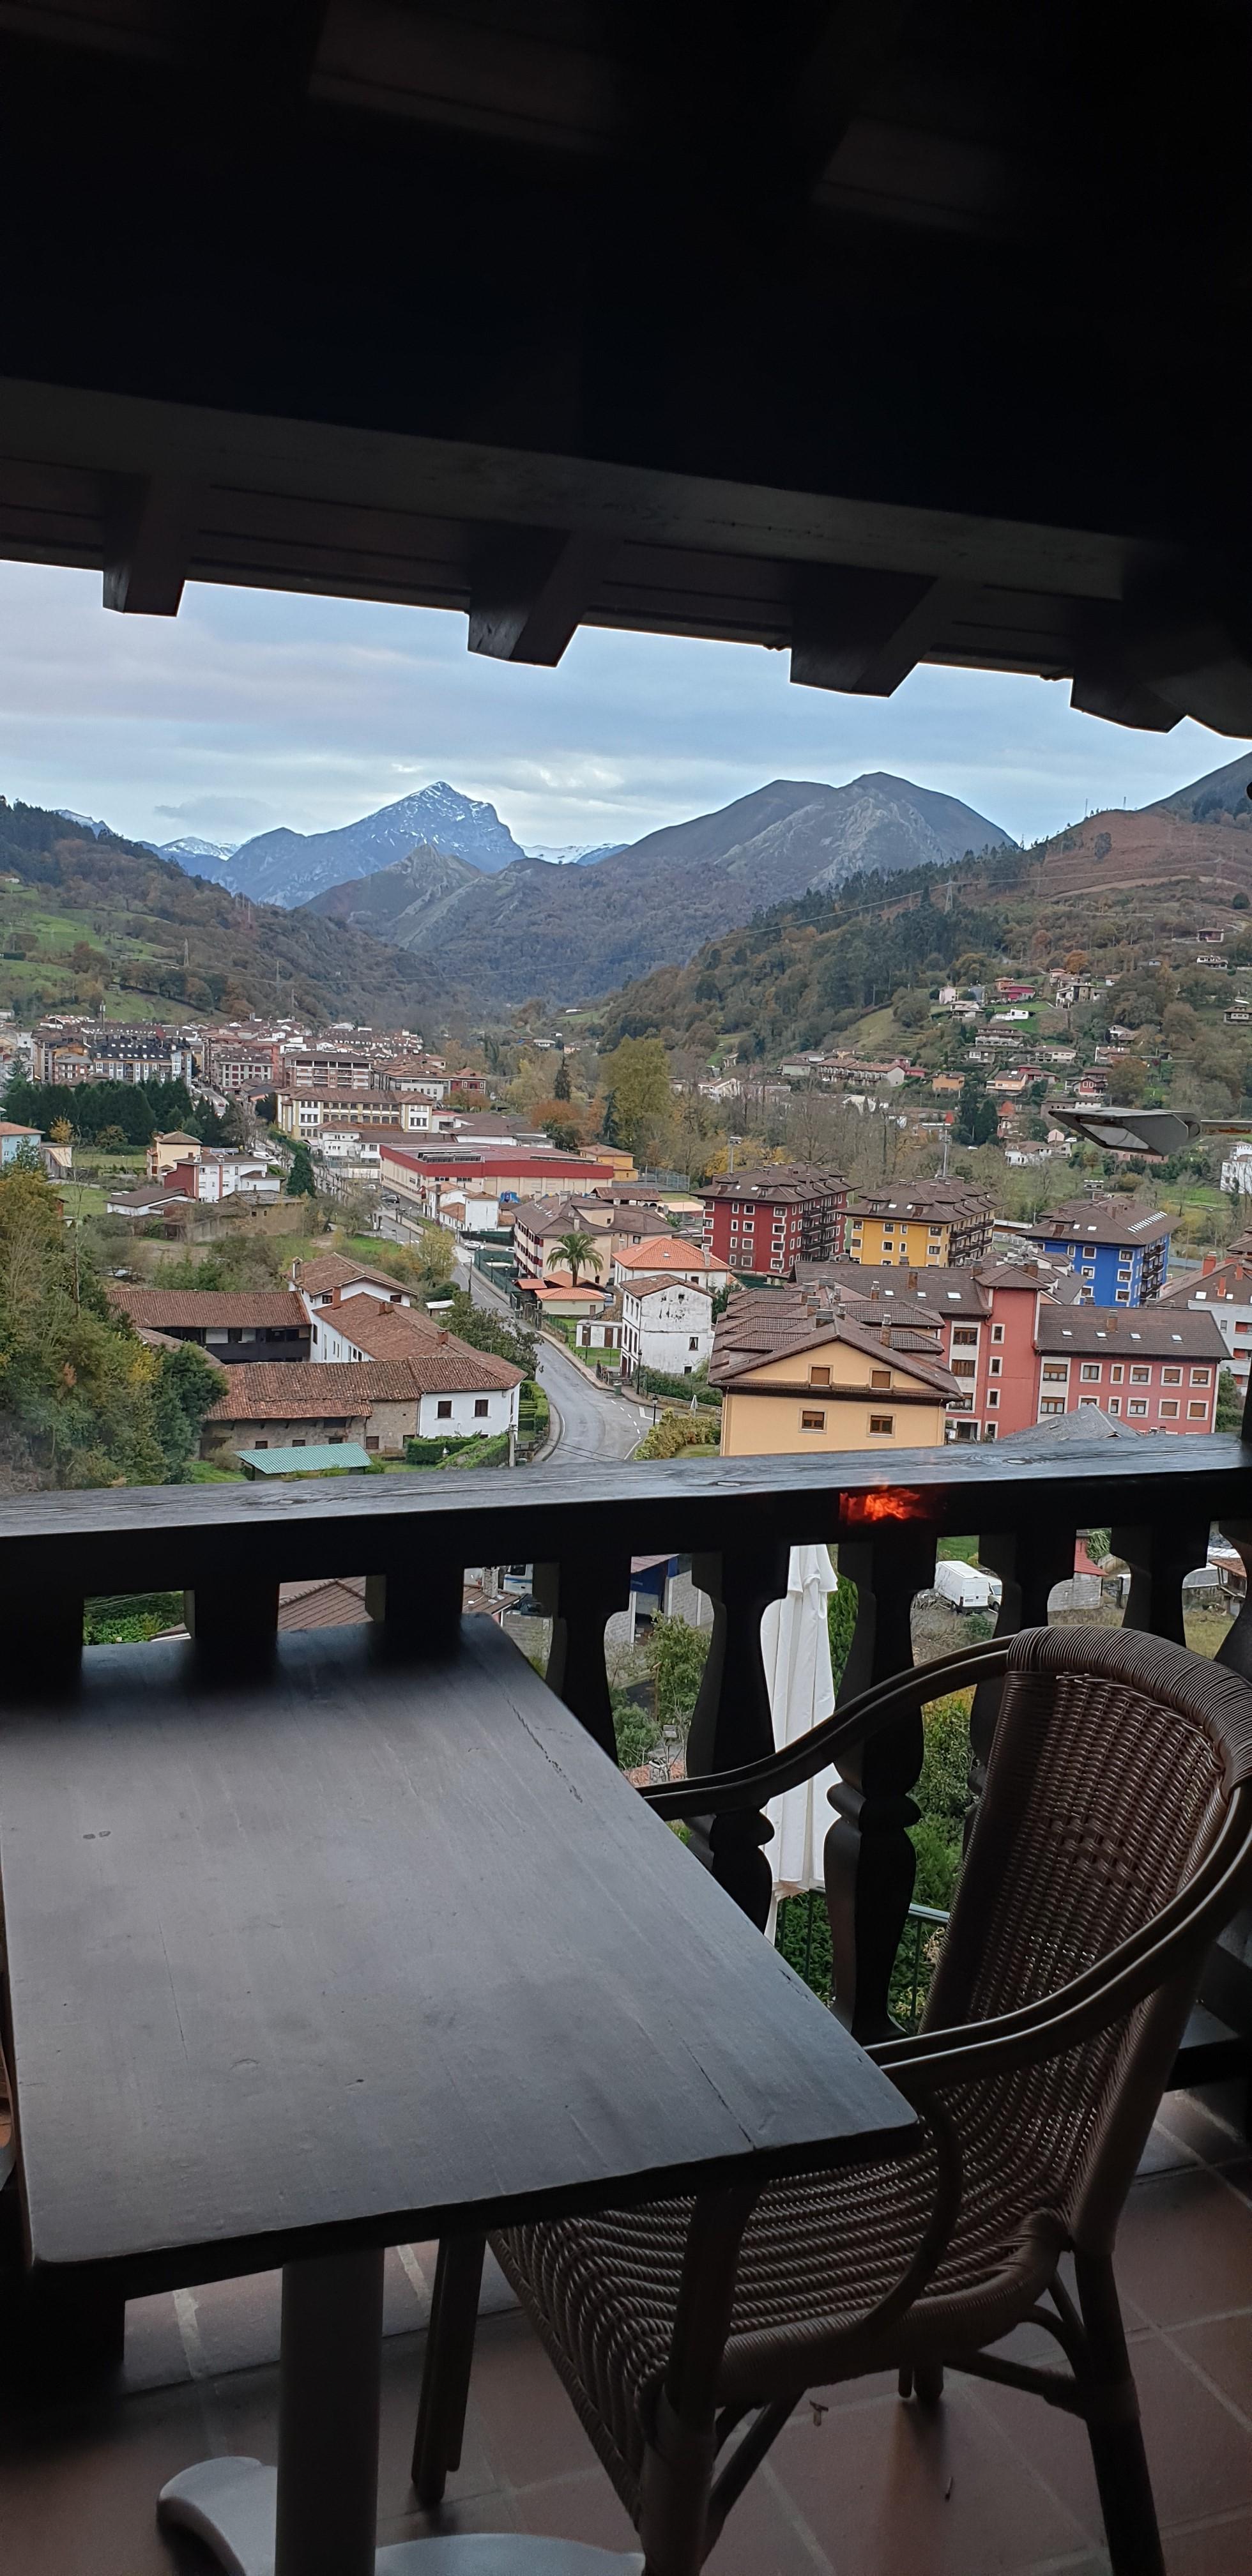
[[[448,1641],[469,1564],[536,1566],[551,1613],[549,1682],[613,1752],[605,1620],[626,1605],[631,1556],[690,1553],[714,1600],[714,1638],[688,1770],[729,1770],[770,1752],[760,1613],[786,1589],[788,1548],[827,1540],[858,1587],[840,1698],[912,1662],[909,1613],[933,1584],[943,1535],[979,1540],[1002,1579],[997,1633],[1046,1620],[1074,1569],[1074,1538],[1110,1528],[1131,1566],[1126,1623],[1182,1643],[1182,1579],[1206,1564],[1213,1522],[1252,1566],[1252,1445],[1234,1437],[1046,1437],[845,1458],[564,1466],[466,1479],[265,1486],[152,1486],[31,1494],[0,1504],[0,1703],[72,1687],[82,1602],[106,1592],[183,1589],[196,1654],[229,1680],[276,1646],[278,1584],[363,1574],[379,1651],[422,1656]],[[108,1654],[108,1646],[88,1649]],[[1224,1662],[1252,1677],[1244,1605]],[[3,1723],[3,1718],[0,1718]],[[994,1731],[994,1685],[971,1718],[971,1795]],[[835,2009],[860,2035],[889,2027],[886,1994],[912,1896],[912,1785],[920,1716],[848,1759],[835,1837]],[[734,1901],[765,1922],[763,1814],[706,1816],[693,1847]],[[1234,1965],[1231,1965],[1234,1976]],[[1249,1976],[1252,1986],[1252,1976]],[[1244,2014],[1252,2030],[1252,2009]]]

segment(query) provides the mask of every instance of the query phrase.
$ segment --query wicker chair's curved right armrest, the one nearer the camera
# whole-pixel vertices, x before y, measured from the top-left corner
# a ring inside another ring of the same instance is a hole
[[[1208,1947],[1234,1911],[1252,1873],[1252,1783],[1242,1783],[1229,1803],[1213,1850],[1195,1878],[1139,1932],[1118,1942],[1108,1958],[1020,2012],[992,2022],[961,2022],[951,2030],[920,2030],[915,2038],[878,2040],[866,2053],[891,2074],[912,2099],[930,2097],[945,2081],[971,2084],[989,2074],[1012,2074],[1038,2058],[1064,2056],[1079,2040],[1123,2020],[1177,1968]]]

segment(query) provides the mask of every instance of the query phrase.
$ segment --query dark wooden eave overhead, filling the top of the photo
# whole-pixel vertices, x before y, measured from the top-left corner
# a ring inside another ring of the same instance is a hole
[[[0,554],[1252,732],[1247,13],[0,0]]]

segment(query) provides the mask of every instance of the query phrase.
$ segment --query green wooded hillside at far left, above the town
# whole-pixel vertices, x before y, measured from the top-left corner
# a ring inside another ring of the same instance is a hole
[[[312,912],[250,904],[116,832],[0,799],[0,1002],[111,1018],[294,1010],[446,1025],[446,979]]]

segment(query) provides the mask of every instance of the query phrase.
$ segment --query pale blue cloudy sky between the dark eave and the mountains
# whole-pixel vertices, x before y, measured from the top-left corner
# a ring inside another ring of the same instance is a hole
[[[953,670],[840,698],[791,688],[778,652],[595,629],[559,670],[513,670],[435,608],[188,587],[178,618],[126,618],[93,572],[0,564],[0,793],[144,840],[319,832],[430,778],[489,799],[523,845],[639,840],[768,778],[858,770],[1036,840],[1244,750],[1067,701],[1067,683]]]

